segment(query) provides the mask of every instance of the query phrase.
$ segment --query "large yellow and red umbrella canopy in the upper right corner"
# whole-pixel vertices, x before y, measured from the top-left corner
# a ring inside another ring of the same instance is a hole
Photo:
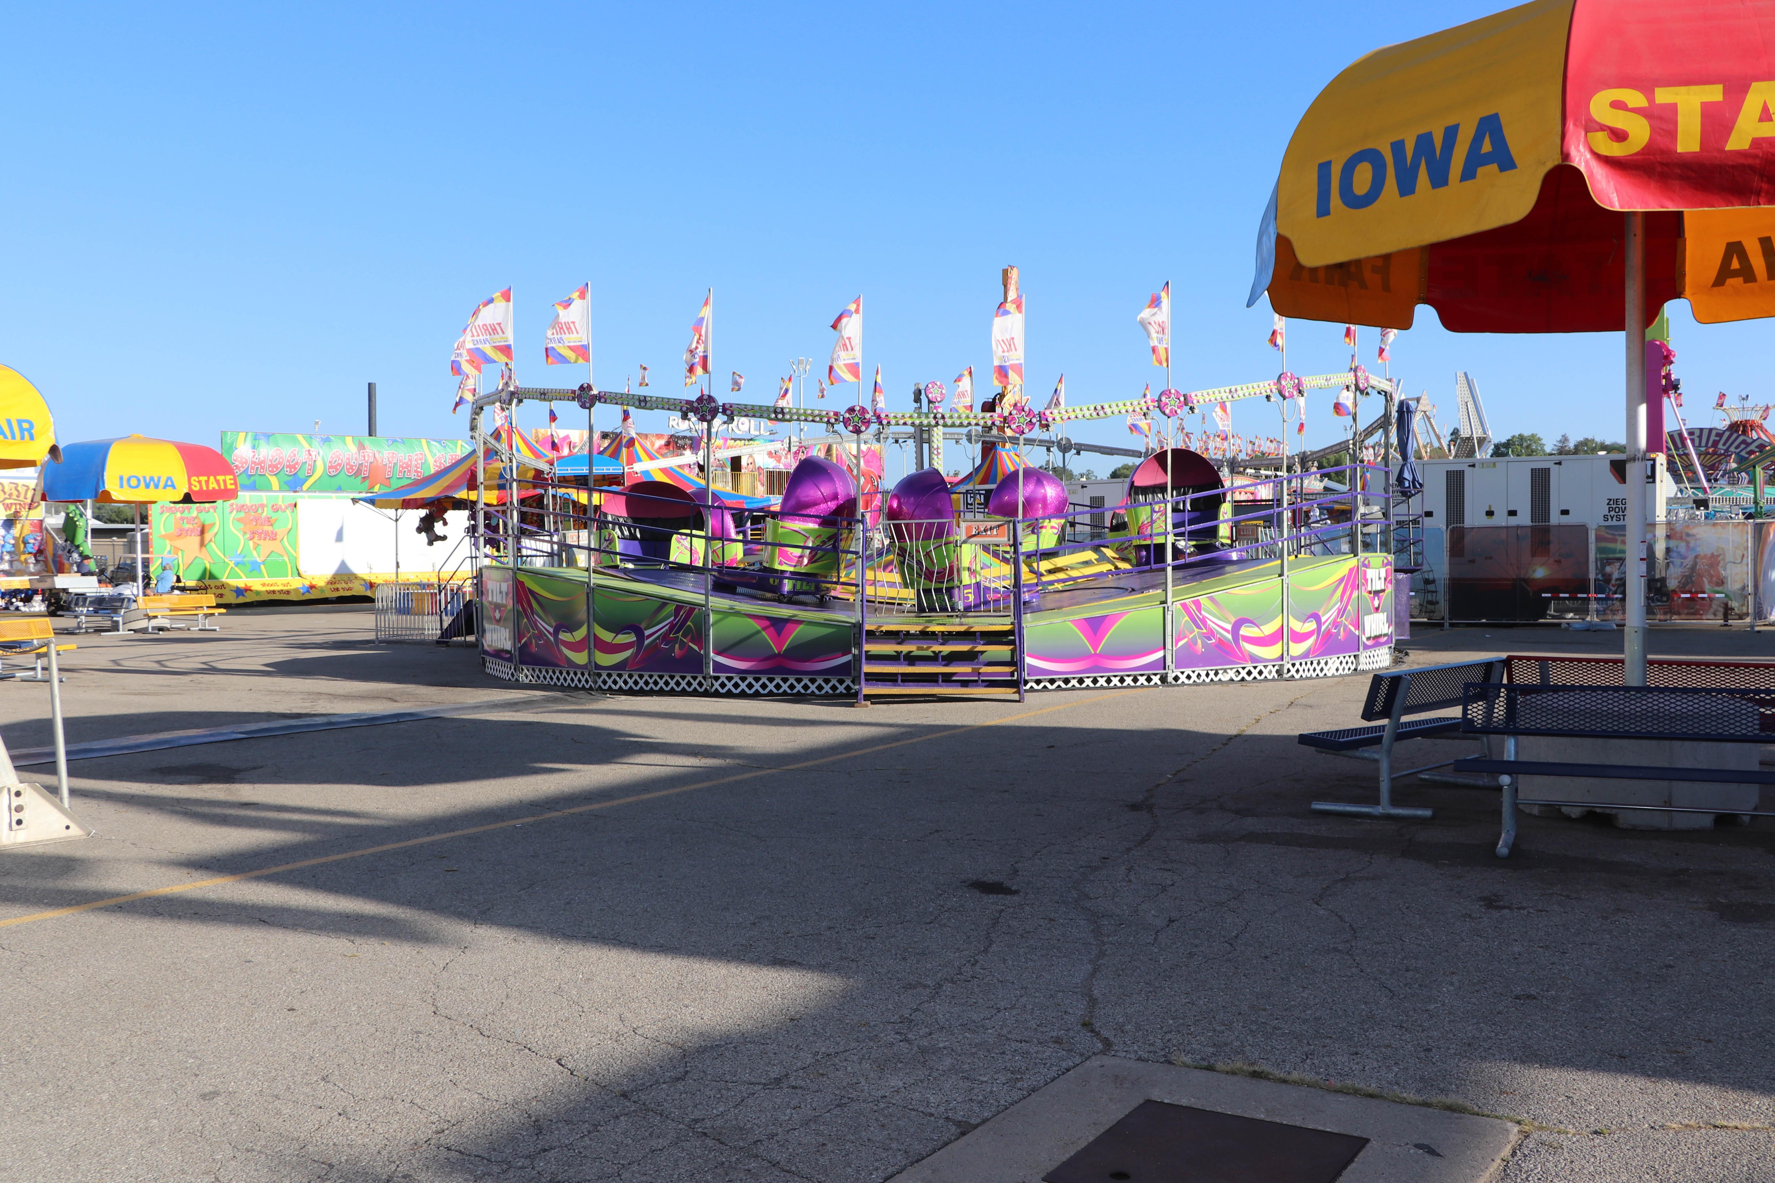
[[[1617,211],[1638,209],[1647,325],[1676,298],[1704,323],[1771,316],[1771,80],[1768,4],[1537,0],[1376,50],[1294,129],[1248,303],[1619,332]]]

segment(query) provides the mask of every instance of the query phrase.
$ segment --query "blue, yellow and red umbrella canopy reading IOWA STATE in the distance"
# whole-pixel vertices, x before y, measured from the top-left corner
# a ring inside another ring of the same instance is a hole
[[[231,502],[240,495],[234,466],[202,443],[131,435],[62,449],[43,466],[46,502]]]

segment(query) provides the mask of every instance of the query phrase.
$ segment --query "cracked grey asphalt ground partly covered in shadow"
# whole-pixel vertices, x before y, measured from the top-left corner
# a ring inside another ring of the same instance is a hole
[[[0,921],[531,821],[0,928],[0,1179],[884,1179],[1097,1052],[1521,1117],[1509,1183],[1775,1178],[1775,828],[1523,818],[1498,860],[1493,793],[1312,814],[1374,795],[1294,741],[1367,678],[857,711],[538,693],[369,623],[82,640],[75,740],[509,701],[75,763],[98,835],[0,855]],[[44,699],[0,686],[9,747]]]

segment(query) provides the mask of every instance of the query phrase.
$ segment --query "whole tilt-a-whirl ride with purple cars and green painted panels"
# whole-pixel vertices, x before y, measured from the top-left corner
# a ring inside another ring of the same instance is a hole
[[[502,387],[470,413],[474,488],[495,493],[470,502],[485,669],[582,688],[866,702],[1386,667],[1390,449],[1379,465],[1276,466],[1260,484],[1241,484],[1237,502],[1225,461],[1161,449],[1111,507],[1070,505],[1058,479],[1014,450],[1065,420],[1177,417],[1310,388],[1379,396],[1392,422],[1392,387],[1361,367],[1056,411],[948,415]],[[694,456],[632,481],[566,475],[515,454],[518,433],[483,420],[501,406],[509,422],[525,401],[573,403],[588,427],[600,403],[673,411],[703,424],[708,454],[719,422],[735,417],[825,426],[848,433],[850,447],[832,449],[845,463],[802,458],[779,500],[710,488],[692,475]],[[1005,475],[983,511],[964,513],[934,468],[879,488],[863,463],[864,436],[895,426],[974,427],[983,447],[999,449]]]

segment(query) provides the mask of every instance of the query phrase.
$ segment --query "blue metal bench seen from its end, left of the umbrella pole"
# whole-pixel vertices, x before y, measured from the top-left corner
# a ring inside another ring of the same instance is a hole
[[[1461,731],[1459,715],[1413,718],[1427,711],[1445,711],[1464,702],[1468,683],[1503,681],[1503,658],[1479,662],[1452,662],[1448,665],[1422,665],[1409,670],[1376,674],[1369,683],[1369,697],[1361,704],[1363,718],[1384,718],[1370,727],[1340,727],[1337,731],[1308,731],[1296,736],[1298,743],[1335,756],[1354,756],[1381,764],[1381,800],[1377,805],[1351,805],[1345,802],[1314,802],[1322,814],[1353,814],[1358,818],[1431,818],[1432,809],[1393,805],[1393,782],[1415,777],[1432,768],[1447,768],[1456,761],[1424,764],[1408,772],[1393,772],[1393,745],[1400,740],[1448,736]],[[1365,748],[1377,747],[1379,752]]]

